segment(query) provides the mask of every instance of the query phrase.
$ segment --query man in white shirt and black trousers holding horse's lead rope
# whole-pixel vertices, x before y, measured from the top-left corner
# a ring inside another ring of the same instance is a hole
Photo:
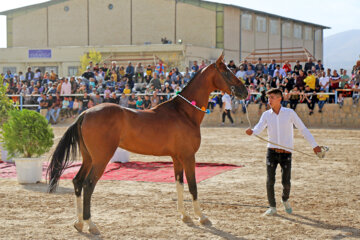
[[[259,135],[266,127],[269,136],[269,141],[282,145],[280,147],[274,144],[268,144],[268,151],[266,156],[267,167],[267,197],[270,208],[265,212],[266,216],[276,214],[276,201],[274,193],[275,174],[278,164],[281,166],[282,173],[282,203],[287,213],[292,213],[292,208],[288,201],[290,196],[290,179],[291,179],[291,149],[293,146],[293,126],[299,129],[305,139],[311,144],[315,154],[321,152],[321,148],[315,142],[314,137],[310,131],[305,127],[304,123],[298,117],[294,110],[290,108],[281,107],[282,92],[280,89],[274,88],[267,92],[269,104],[271,109],[264,112],[259,120],[259,123],[254,129],[247,129],[248,135]]]

